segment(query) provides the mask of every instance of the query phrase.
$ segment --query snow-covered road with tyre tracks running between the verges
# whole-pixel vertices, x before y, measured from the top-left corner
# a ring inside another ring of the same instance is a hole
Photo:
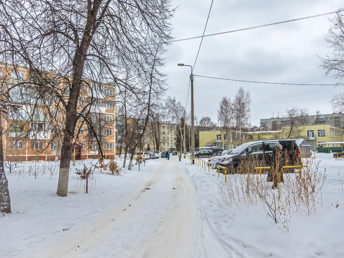
[[[120,204],[32,257],[236,257],[203,221],[181,162],[157,162]]]

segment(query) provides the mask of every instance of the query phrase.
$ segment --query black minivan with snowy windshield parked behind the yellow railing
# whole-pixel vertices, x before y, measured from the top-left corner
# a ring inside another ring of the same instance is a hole
[[[216,166],[226,167],[228,173],[235,173],[241,162],[250,162],[250,160],[254,161],[258,166],[270,166],[270,156],[273,148],[276,146],[276,142],[282,145],[282,151],[286,153],[288,158],[288,165],[302,164],[300,150],[294,140],[273,139],[243,143],[235,148],[229,155],[226,155],[226,158],[219,159]],[[252,170],[254,170],[254,168],[252,168]],[[294,171],[294,169],[291,169],[289,172],[291,171]]]

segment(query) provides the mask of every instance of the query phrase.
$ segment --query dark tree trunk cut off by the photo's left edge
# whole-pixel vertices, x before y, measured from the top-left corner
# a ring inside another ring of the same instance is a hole
[[[11,213],[11,199],[8,191],[8,182],[3,166],[3,148],[2,148],[2,117],[0,107],[0,212]]]

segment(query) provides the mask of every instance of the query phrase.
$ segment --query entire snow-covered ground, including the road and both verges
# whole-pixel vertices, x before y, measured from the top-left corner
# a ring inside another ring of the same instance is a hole
[[[96,169],[88,194],[75,167],[95,161],[79,161],[67,197],[55,194],[58,162],[21,163],[7,173],[12,214],[0,217],[0,257],[344,257],[344,159],[316,155],[327,175],[322,205],[310,216],[291,211],[289,232],[264,205],[226,206],[224,176],[188,159],[149,160],[119,176]]]

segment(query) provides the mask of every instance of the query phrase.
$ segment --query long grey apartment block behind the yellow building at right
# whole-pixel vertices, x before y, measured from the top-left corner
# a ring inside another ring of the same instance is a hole
[[[297,126],[301,125],[330,125],[344,129],[344,114],[339,112],[326,115],[307,115],[297,123]],[[277,131],[281,130],[283,126],[290,126],[290,117],[260,119],[260,129],[262,131]]]

